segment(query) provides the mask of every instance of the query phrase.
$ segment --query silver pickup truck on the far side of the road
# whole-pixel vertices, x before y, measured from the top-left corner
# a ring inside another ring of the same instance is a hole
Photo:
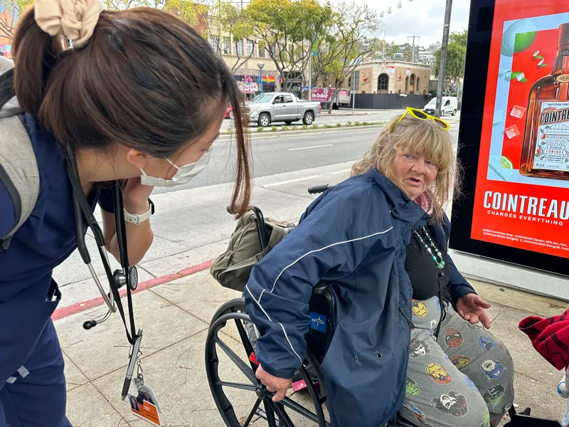
[[[304,125],[312,125],[314,117],[320,114],[320,102],[298,100],[294,93],[267,92],[257,95],[247,105],[250,122],[267,127],[274,122],[302,120]]]

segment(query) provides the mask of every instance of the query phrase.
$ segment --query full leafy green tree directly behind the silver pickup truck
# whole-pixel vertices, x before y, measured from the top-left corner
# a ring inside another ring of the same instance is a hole
[[[317,0],[252,0],[245,9],[252,31],[262,41],[269,58],[282,77],[282,88],[289,90],[288,73],[299,73],[306,83],[312,42],[326,36],[332,11]]]

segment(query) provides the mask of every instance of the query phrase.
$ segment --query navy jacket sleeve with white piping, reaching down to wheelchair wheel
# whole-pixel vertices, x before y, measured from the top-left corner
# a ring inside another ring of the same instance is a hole
[[[336,187],[252,269],[245,305],[260,332],[255,355],[270,374],[289,379],[302,364],[314,285],[349,275],[390,238],[390,216],[381,218],[388,210],[368,191]]]

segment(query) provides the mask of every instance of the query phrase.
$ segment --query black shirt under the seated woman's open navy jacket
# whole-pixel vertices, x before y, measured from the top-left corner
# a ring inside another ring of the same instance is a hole
[[[427,231],[429,231],[428,228]],[[418,230],[418,233],[420,233],[423,241],[430,245],[422,229]],[[432,233],[429,234],[432,236]],[[439,295],[439,288],[442,288],[442,299],[450,302],[448,263],[445,260],[445,268],[439,270],[432,256],[427,252],[419,238],[415,236],[415,233],[411,235],[411,241],[407,246],[405,271],[407,271],[413,287],[413,298],[415,300],[428,300]]]

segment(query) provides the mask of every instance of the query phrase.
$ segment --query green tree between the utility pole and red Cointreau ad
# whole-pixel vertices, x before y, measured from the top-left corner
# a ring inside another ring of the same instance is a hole
[[[462,76],[464,75],[464,60],[467,53],[467,36],[466,30],[461,33],[452,33],[449,36],[449,44],[447,47],[447,68],[445,70],[445,92],[450,94],[452,87],[457,86],[459,92],[459,85]],[[435,51],[435,61],[432,65],[433,74],[439,77],[440,72],[440,53],[441,48]]]

